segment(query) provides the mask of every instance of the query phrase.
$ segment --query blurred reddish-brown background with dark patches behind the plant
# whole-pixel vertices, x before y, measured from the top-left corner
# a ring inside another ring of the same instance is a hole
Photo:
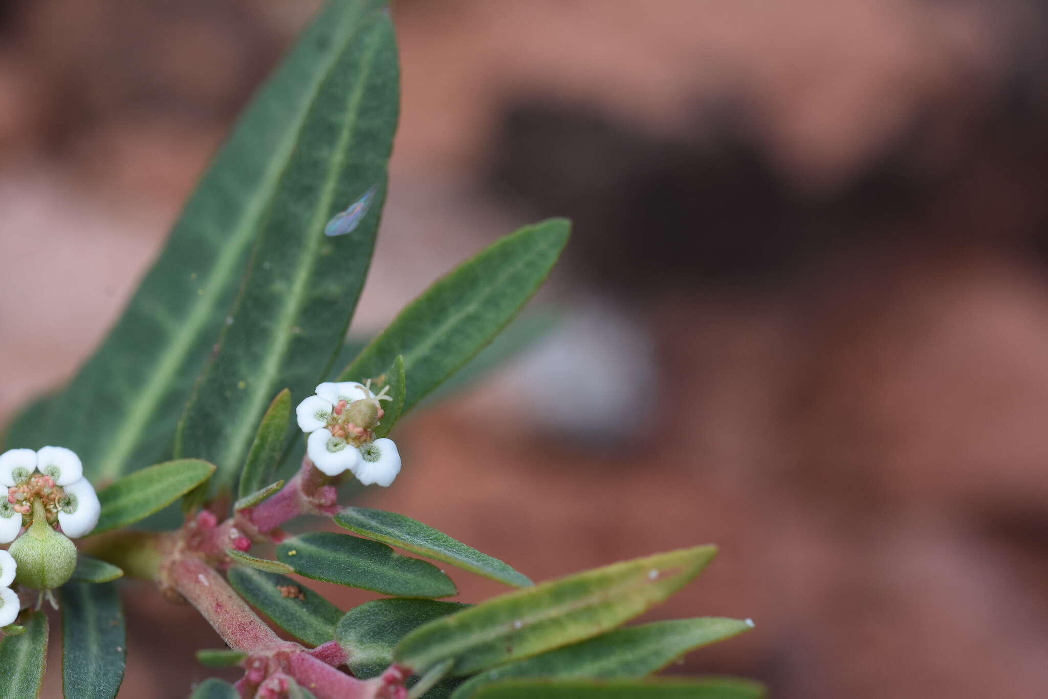
[[[92,351],[315,6],[0,4],[0,422]],[[521,223],[576,235],[556,329],[405,423],[368,502],[537,580],[720,544],[651,617],[757,629],[672,672],[1048,696],[1045,12],[396,2],[402,121],[354,330]],[[126,590],[121,696],[184,696],[220,641]]]

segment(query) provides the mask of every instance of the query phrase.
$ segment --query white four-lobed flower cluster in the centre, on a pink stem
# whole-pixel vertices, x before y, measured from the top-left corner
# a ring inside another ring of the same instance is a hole
[[[299,403],[299,427],[309,435],[306,453],[328,476],[351,472],[365,485],[390,485],[400,473],[400,455],[392,439],[375,439],[374,428],[389,400],[388,387],[377,395],[355,381],[326,383],[316,395]]]

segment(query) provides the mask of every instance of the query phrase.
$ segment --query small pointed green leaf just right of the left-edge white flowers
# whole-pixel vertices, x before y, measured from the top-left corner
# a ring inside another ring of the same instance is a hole
[[[215,466],[180,459],[136,471],[99,493],[102,514],[92,534],[116,529],[158,512],[211,478]]]

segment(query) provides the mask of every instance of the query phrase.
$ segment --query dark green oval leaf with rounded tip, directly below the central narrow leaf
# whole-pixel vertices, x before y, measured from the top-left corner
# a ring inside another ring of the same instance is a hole
[[[458,592],[436,566],[347,534],[316,531],[294,537],[277,546],[277,558],[300,575],[383,594],[447,597]]]

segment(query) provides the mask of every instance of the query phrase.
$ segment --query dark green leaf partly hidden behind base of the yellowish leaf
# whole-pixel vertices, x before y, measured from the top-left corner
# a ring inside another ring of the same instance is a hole
[[[418,627],[470,605],[433,599],[375,599],[346,612],[334,639],[346,651],[347,665],[363,679],[377,677],[393,662],[393,649]]]

